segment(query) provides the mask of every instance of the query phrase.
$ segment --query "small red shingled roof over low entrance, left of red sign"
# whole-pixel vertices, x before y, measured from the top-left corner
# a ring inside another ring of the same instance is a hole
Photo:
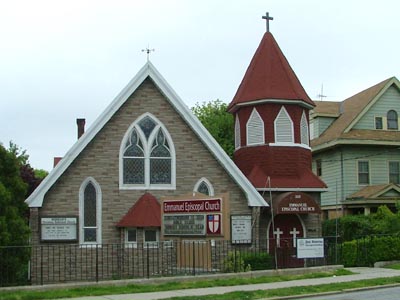
[[[160,203],[152,194],[144,194],[118,222],[117,227],[161,227]]]

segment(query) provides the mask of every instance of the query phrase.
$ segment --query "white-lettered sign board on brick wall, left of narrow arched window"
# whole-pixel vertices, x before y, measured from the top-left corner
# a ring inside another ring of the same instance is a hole
[[[72,242],[78,239],[77,217],[42,217],[40,219],[43,242]]]

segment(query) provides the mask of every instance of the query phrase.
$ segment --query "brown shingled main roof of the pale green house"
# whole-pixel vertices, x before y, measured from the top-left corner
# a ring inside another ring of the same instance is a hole
[[[361,144],[368,144],[374,141],[394,142],[400,144],[400,132],[376,131],[376,130],[355,130],[353,126],[368,111],[368,109],[376,103],[382,94],[392,85],[400,89],[400,83],[395,77],[384,80],[346,100],[343,102],[327,102],[317,101],[314,114],[323,115],[331,113],[332,116],[337,113],[337,119],[316,139],[311,141],[313,152],[332,147],[337,144],[354,144],[354,140],[358,140]],[[315,117],[315,116],[314,116]],[[376,143],[377,142],[377,143]]]

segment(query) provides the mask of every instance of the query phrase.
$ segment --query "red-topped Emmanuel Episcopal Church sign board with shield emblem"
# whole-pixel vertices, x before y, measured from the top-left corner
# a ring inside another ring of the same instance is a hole
[[[164,235],[221,234],[221,199],[164,200],[162,210]]]

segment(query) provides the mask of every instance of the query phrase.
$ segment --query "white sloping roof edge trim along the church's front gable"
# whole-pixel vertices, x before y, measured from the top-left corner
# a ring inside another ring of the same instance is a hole
[[[68,169],[71,163],[85,149],[85,147],[94,139],[96,134],[106,125],[111,117],[125,103],[130,95],[142,84],[146,78],[151,78],[157,88],[166,97],[175,111],[182,117],[194,133],[199,137],[203,144],[209,149],[210,153],[238,184],[247,197],[249,206],[268,206],[265,200],[252,186],[248,179],[243,175],[239,168],[229,158],[221,146],[215,141],[207,129],[194,116],[191,110],[184,104],[180,97],[175,93],[172,87],[161,76],[158,70],[151,62],[147,62],[128,85],[117,95],[109,104],[103,113],[95,120],[93,125],[78,139],[71,149],[65,154],[64,158],[42,181],[36,190],[26,199],[30,207],[41,207],[44,196],[60,176]]]

